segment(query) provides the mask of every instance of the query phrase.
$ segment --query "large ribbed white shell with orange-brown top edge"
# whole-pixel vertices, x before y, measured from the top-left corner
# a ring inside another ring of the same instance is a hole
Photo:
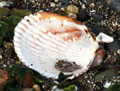
[[[72,78],[86,72],[99,45],[81,22],[38,12],[18,23],[14,47],[19,59],[29,68],[57,79],[61,72]]]

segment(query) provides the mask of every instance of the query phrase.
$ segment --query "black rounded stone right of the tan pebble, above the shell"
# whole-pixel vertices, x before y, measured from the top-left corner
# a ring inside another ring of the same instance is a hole
[[[81,9],[78,13],[78,20],[80,21],[86,21],[89,19],[88,12],[85,9]]]

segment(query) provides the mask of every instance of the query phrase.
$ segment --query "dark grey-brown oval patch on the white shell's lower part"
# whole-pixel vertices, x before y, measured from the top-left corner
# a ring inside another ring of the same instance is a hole
[[[55,68],[61,72],[74,72],[78,69],[81,69],[81,66],[77,65],[75,62],[58,60],[58,62],[55,64]]]

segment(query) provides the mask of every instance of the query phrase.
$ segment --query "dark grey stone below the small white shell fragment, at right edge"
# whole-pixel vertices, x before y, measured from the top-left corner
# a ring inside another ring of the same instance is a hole
[[[120,40],[115,39],[112,43],[106,44],[106,47],[111,51],[117,51],[120,49]]]

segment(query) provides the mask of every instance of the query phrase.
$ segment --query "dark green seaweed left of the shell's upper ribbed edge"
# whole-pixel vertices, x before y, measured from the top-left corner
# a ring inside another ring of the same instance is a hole
[[[0,46],[4,40],[13,39],[15,26],[25,15],[30,13],[25,10],[0,8]]]

